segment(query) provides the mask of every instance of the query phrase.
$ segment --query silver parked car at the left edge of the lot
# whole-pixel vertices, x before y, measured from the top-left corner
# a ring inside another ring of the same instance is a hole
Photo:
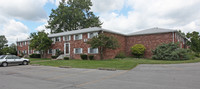
[[[20,58],[15,55],[1,55],[0,56],[0,65],[3,67],[8,66],[8,64],[23,64],[28,65],[29,59]]]

